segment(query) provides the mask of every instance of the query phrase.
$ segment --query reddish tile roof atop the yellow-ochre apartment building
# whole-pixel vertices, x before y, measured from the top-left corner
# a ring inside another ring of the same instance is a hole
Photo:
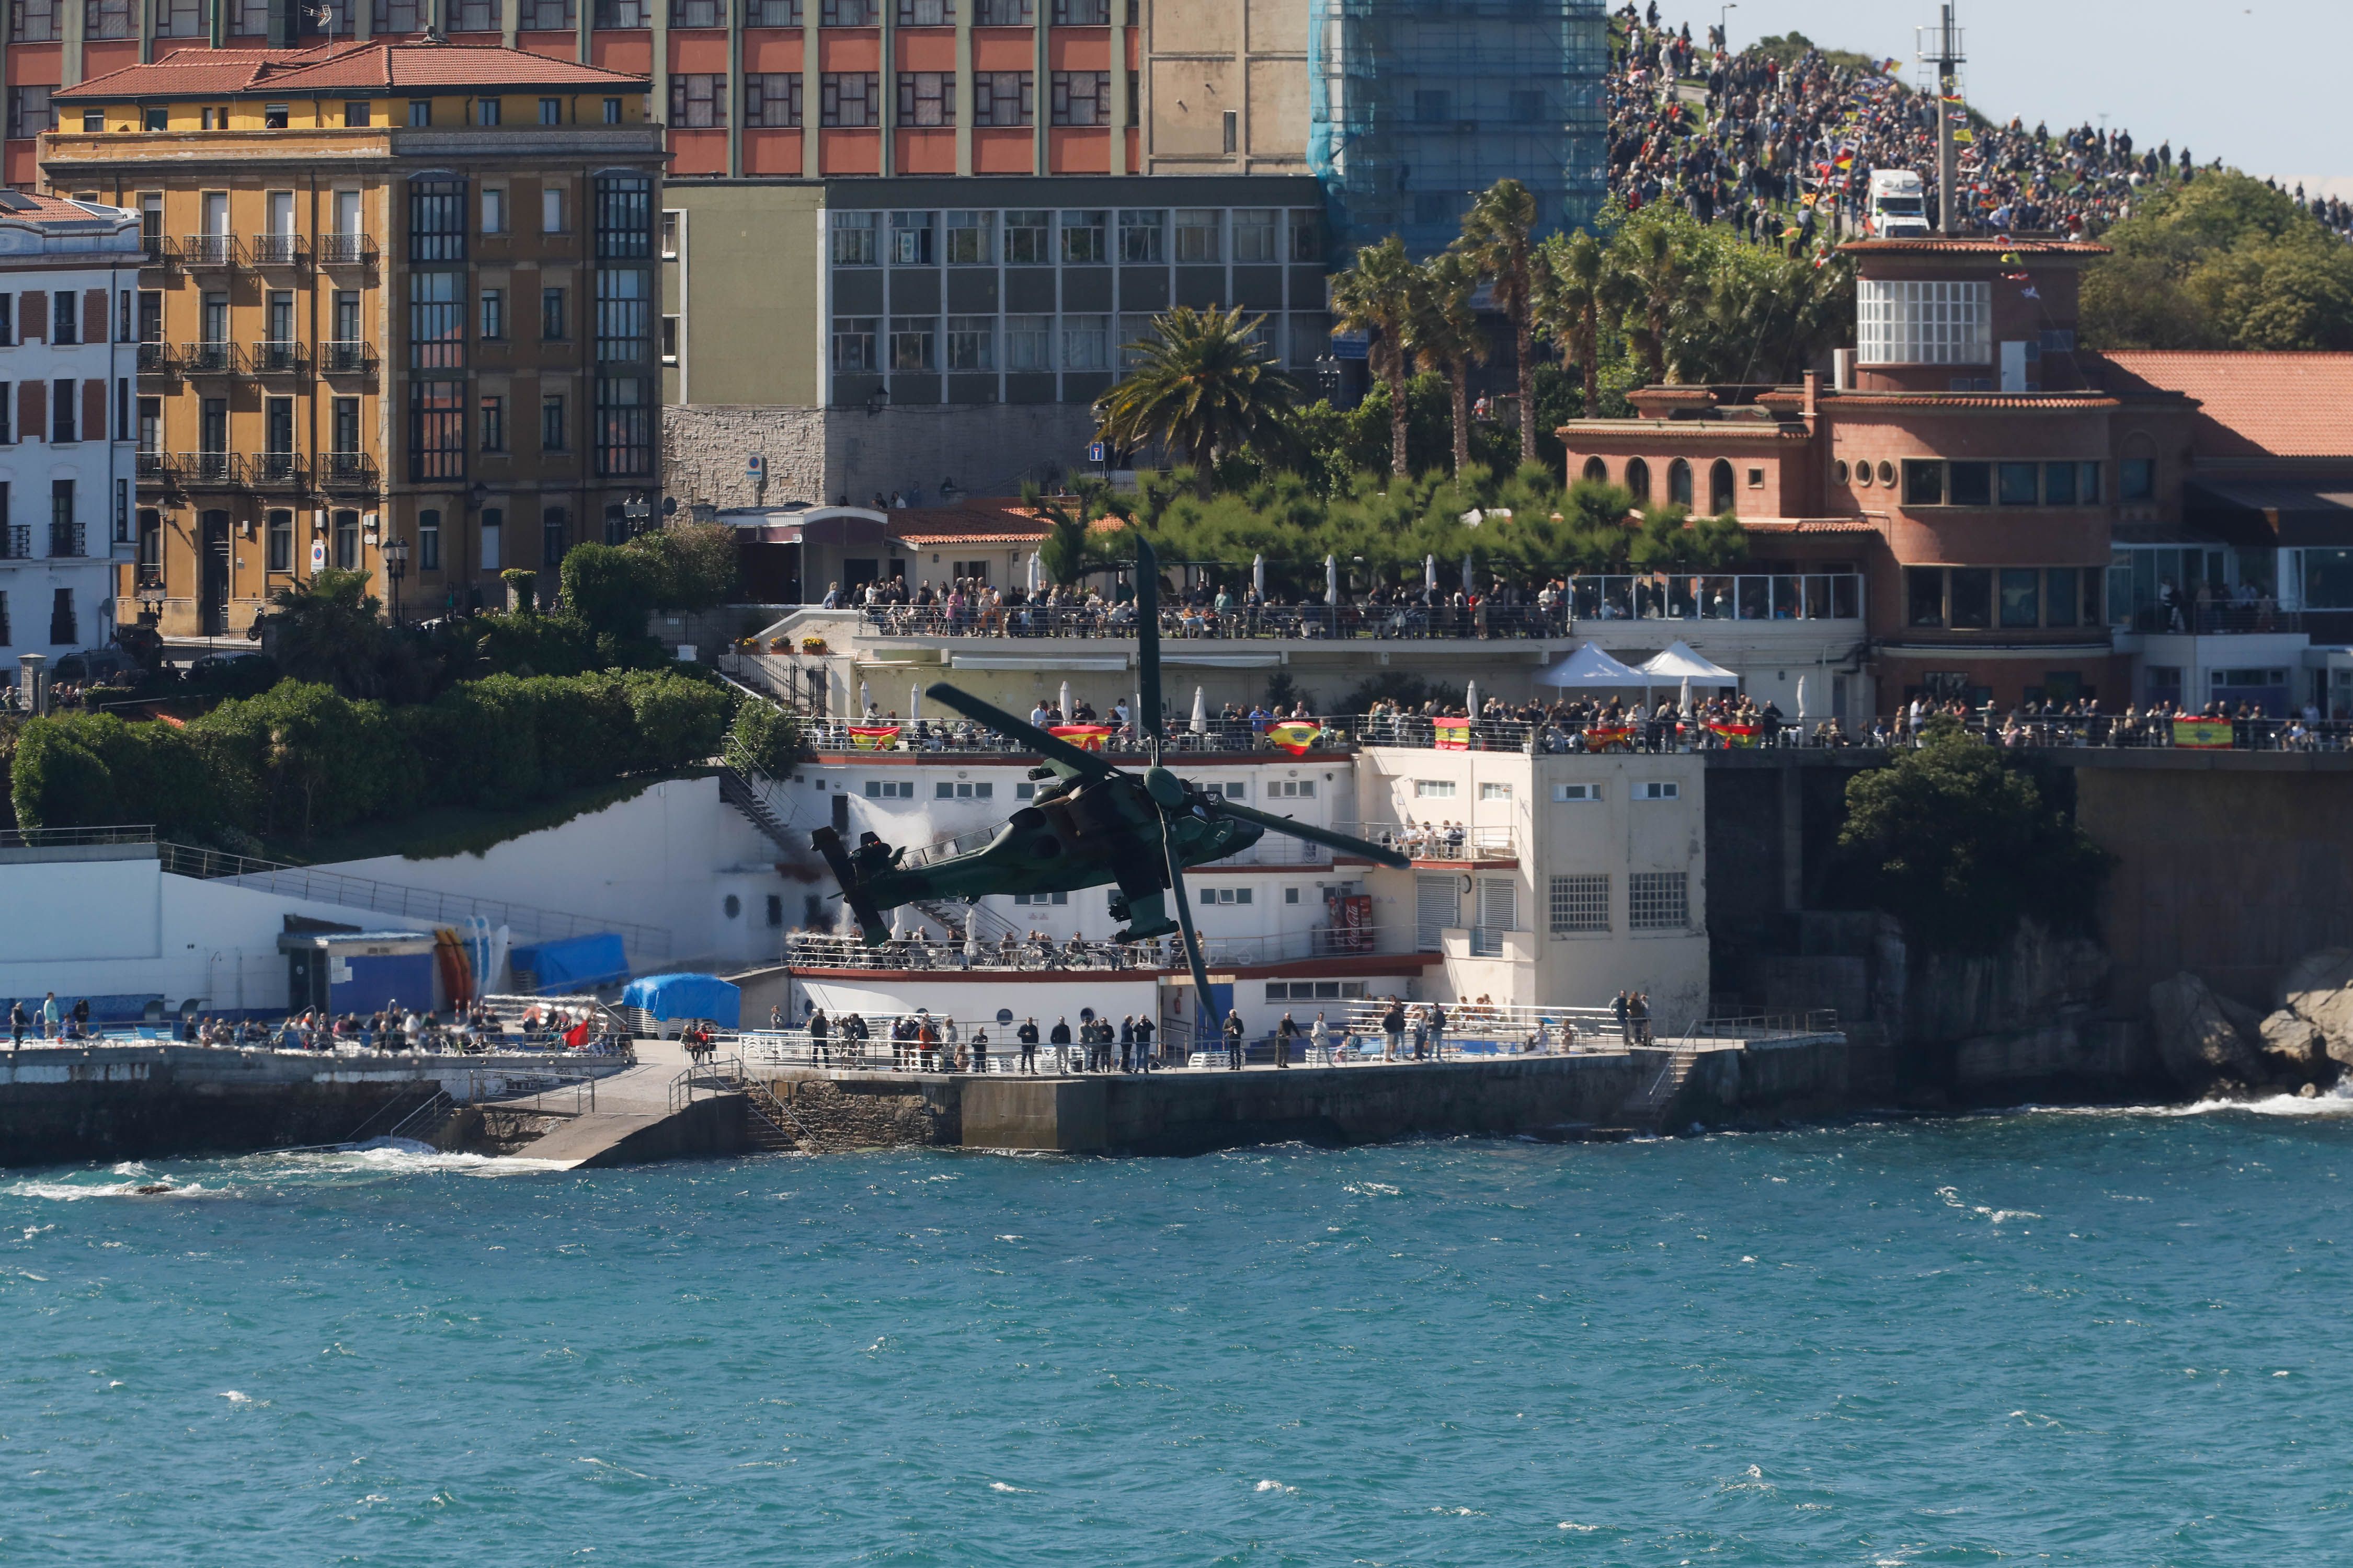
[[[649,78],[581,66],[527,49],[424,40],[311,49],[174,49],[146,66],[59,87],[54,101],[176,99],[306,92],[416,92],[428,87],[576,87],[645,92]]]

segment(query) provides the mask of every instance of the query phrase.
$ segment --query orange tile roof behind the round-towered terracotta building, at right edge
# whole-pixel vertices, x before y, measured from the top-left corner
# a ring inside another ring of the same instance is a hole
[[[2186,393],[2200,402],[2200,458],[2353,456],[2353,355],[2113,348],[2115,393]]]

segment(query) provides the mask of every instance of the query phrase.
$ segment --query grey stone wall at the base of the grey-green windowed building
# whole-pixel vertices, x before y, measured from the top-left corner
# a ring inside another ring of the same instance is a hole
[[[1085,470],[1094,414],[1078,402],[885,407],[880,411],[812,407],[671,407],[664,409],[666,489],[713,505],[784,505],[786,501],[866,505],[873,496],[920,489],[939,501],[939,482],[969,496],[1014,496],[1026,480]],[[758,454],[765,489],[744,473]]]

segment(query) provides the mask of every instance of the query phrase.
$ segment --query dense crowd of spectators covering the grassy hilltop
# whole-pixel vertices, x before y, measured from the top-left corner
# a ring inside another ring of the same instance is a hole
[[[1713,26],[1694,42],[1689,24],[1661,24],[1657,0],[1617,16],[1609,190],[1628,207],[1678,202],[1767,244],[1795,228],[1807,247],[1819,230],[1859,233],[1873,169],[1913,169],[1934,221],[1937,101],[1908,89],[1897,61],[1840,63],[1812,47],[1791,61],[1755,45],[1729,52]],[[1960,233],[2097,235],[2151,183],[2195,179],[2188,146],[2144,148],[2129,129],[2101,125],[2054,134],[2017,118],[1972,120],[1958,169]],[[2334,197],[2306,200],[2299,188],[2297,200],[2337,230],[2353,226]]]

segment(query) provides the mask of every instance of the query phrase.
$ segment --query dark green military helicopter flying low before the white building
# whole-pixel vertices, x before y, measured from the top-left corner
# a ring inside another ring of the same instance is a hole
[[[934,703],[1035,750],[1045,766],[1031,769],[1031,778],[1045,783],[1038,797],[1014,811],[984,846],[936,860],[908,863],[906,849],[892,849],[873,832],[854,849],[847,849],[833,827],[812,832],[809,846],[833,870],[866,945],[889,940],[882,912],[904,903],[934,898],[969,903],[991,893],[1075,893],[1113,884],[1118,893],[1111,898],[1111,914],[1127,922],[1118,940],[1141,943],[1179,931],[1195,994],[1202,997],[1202,1011],[1214,1013],[1207,1001],[1209,971],[1200,954],[1200,933],[1184,896],[1188,865],[1224,860],[1268,832],[1325,844],[1379,865],[1412,865],[1381,844],[1205,795],[1162,766],[1160,564],[1146,538],[1136,538],[1136,684],[1141,708],[1136,722],[1144,724],[1148,757],[1141,773],[1115,769],[1101,755],[1080,750],[946,682],[925,686],[925,696]],[[1169,919],[1172,907],[1174,919]],[[1209,1023],[1221,1027],[1224,1018],[1212,1016]]]

